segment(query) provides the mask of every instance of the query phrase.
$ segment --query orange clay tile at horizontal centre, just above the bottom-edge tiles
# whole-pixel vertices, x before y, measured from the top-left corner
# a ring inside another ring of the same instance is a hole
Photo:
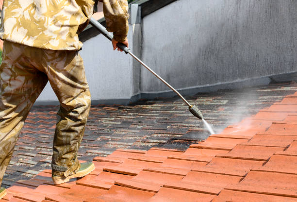
[[[162,185],[168,182],[178,182],[183,178],[179,175],[141,171],[130,180],[116,180],[115,185],[121,185],[143,191],[158,192]]]

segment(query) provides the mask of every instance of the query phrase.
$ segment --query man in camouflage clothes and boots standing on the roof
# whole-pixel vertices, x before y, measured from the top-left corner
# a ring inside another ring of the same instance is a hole
[[[127,0],[100,0],[107,30],[128,46]],[[60,101],[52,155],[54,184],[82,177],[95,167],[77,151],[90,109],[78,33],[93,13],[93,0],[4,0],[0,38],[0,185],[24,121],[47,82]],[[119,50],[119,49],[118,49]],[[0,198],[5,189],[0,189]]]

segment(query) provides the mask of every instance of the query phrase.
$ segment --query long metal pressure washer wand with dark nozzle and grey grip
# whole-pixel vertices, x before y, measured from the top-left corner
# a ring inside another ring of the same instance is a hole
[[[90,19],[90,24],[93,25],[95,28],[97,28],[97,30],[103,34],[106,38],[108,38],[110,41],[113,39],[113,36],[111,34],[109,34],[109,32],[107,32],[107,30],[105,29],[105,27],[103,25],[101,25],[96,19],[94,19],[93,17],[91,17]],[[149,68],[144,62],[142,62],[138,57],[136,57],[131,51],[130,49],[128,49],[123,43],[117,43],[116,46],[118,48],[120,48],[121,50],[125,51],[126,54],[130,54],[135,60],[137,60],[141,65],[143,65],[144,67],[146,67],[148,69],[148,71],[150,71],[153,75],[155,75],[158,79],[160,79],[164,84],[166,84],[171,90],[173,90],[180,98],[181,100],[183,100],[189,107],[189,111],[197,118],[203,119],[203,115],[200,112],[200,110],[198,109],[198,107],[193,104],[191,105],[174,87],[172,87],[170,84],[168,84],[164,79],[162,79],[162,77],[160,77],[156,72],[154,72],[154,70],[152,70],[151,68]]]

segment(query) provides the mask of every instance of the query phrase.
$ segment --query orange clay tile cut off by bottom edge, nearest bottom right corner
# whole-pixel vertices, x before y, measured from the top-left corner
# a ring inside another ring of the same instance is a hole
[[[222,190],[212,202],[296,202],[295,198],[256,194],[243,191]]]

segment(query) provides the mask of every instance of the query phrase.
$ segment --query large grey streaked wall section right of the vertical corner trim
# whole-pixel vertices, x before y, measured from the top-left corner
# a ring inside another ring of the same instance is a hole
[[[142,59],[177,88],[296,71],[296,46],[296,0],[177,0],[143,19]],[[167,90],[142,71],[142,92]]]

